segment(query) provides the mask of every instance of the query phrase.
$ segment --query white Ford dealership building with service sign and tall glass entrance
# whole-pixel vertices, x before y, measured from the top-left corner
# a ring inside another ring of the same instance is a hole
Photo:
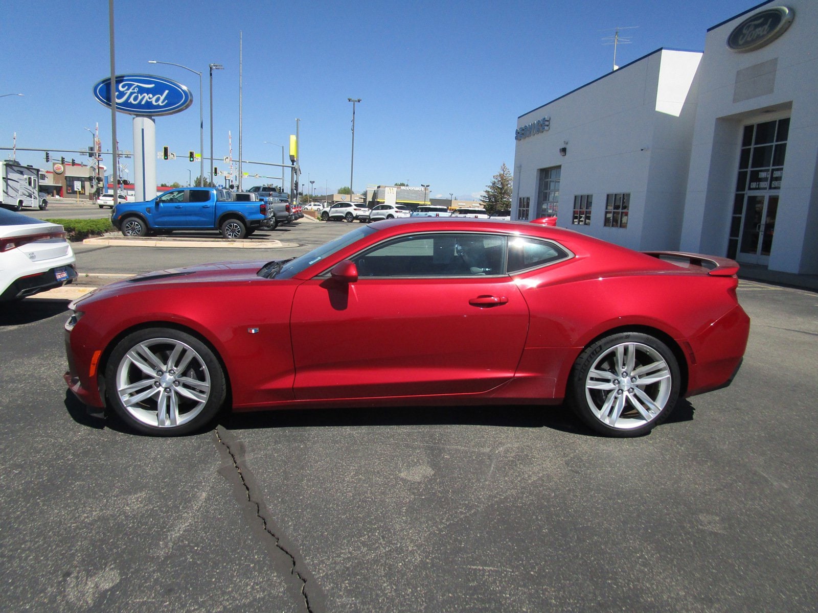
[[[519,117],[512,216],[818,274],[818,2],[764,2]]]

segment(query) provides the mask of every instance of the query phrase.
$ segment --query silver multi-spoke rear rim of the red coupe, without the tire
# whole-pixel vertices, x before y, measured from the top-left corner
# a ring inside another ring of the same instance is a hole
[[[645,426],[662,412],[672,394],[667,361],[653,347],[623,342],[594,360],[585,379],[591,413],[606,426]]]

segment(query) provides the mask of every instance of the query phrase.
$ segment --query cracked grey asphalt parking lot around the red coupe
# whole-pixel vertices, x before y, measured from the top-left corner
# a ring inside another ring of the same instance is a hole
[[[115,250],[78,262],[249,257]],[[162,440],[66,393],[66,301],[27,300],[0,313],[0,608],[815,611],[818,294],[742,281],[739,301],[733,385],[640,439],[561,407],[430,406],[227,414]]]

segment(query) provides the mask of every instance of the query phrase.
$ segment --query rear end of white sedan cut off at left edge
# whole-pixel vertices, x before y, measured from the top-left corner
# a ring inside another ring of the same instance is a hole
[[[0,302],[70,283],[74,262],[62,226],[0,208]]]

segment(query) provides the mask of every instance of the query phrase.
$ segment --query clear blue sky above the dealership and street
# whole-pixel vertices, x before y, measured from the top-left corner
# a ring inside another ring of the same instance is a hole
[[[186,85],[193,105],[156,118],[156,145],[178,159],[157,161],[158,181],[187,184],[199,163],[199,78],[204,73],[209,154],[208,65],[213,76],[214,157],[239,145],[239,33],[243,36],[243,157],[281,162],[301,119],[303,180],[316,194],[349,185],[356,105],[354,188],[402,181],[433,196],[470,199],[501,163],[513,168],[517,117],[611,69],[616,27],[631,43],[617,63],[667,47],[701,51],[706,30],[756,6],[750,0],[555,0],[524,2],[258,2],[115,0],[119,74],[160,74]],[[110,111],[92,86],[110,76],[106,0],[3,0],[0,146],[87,149],[83,128],[99,123],[110,150]],[[119,146],[133,150],[132,117],[119,114]],[[8,152],[3,151],[3,154]],[[43,154],[18,152],[45,168]],[[87,160],[87,159],[86,159]],[[110,163],[107,164],[110,168]],[[133,160],[126,162],[133,177]],[[217,164],[223,166],[223,163]],[[205,163],[205,167],[207,163]],[[245,165],[245,172],[273,174]],[[205,168],[205,172],[206,168]],[[289,177],[289,173],[288,173]],[[267,182],[249,178],[245,189]]]

